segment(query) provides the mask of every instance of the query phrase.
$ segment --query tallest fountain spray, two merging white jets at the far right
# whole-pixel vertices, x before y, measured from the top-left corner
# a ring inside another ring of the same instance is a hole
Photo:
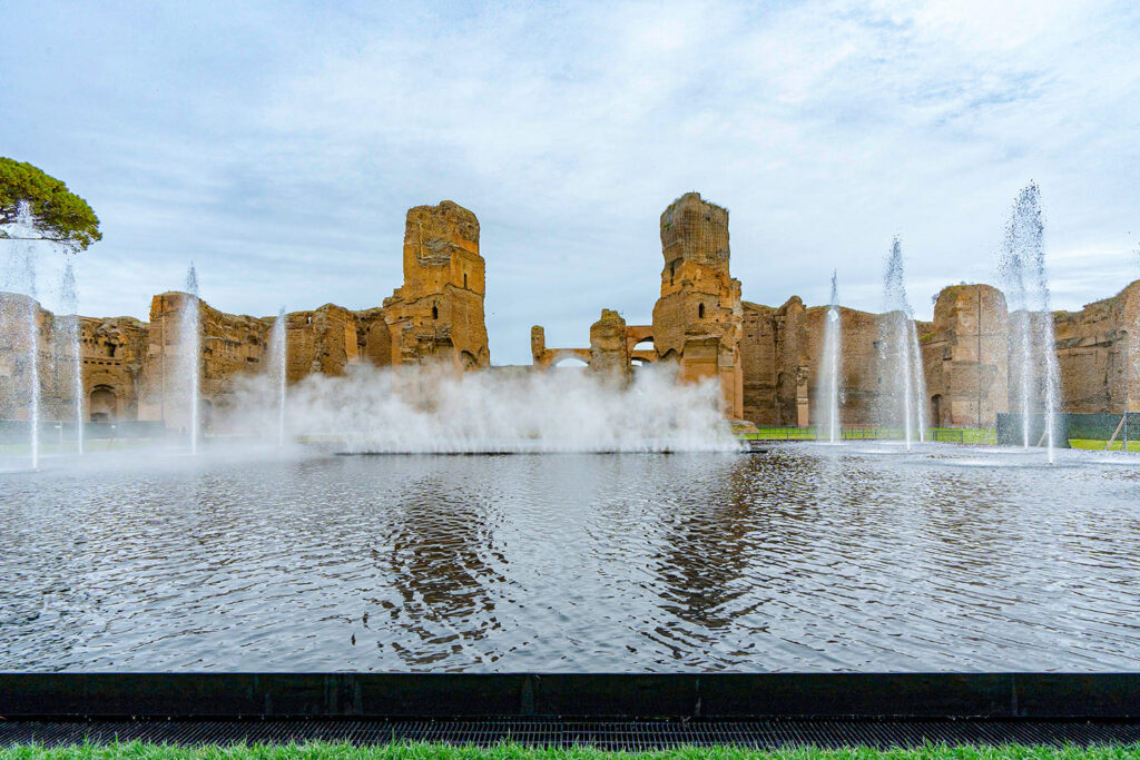
[[[1026,449],[1033,443],[1029,435],[1034,409],[1040,409],[1045,428],[1039,443],[1045,443],[1052,464],[1056,459],[1060,370],[1045,273],[1041,190],[1036,182],[1029,182],[1013,202],[999,268],[1007,299],[1017,314],[1013,321],[1020,359],[1017,386],[1021,442]]]

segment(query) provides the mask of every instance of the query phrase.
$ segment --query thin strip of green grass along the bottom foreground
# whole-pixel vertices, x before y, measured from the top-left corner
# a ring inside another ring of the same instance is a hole
[[[1005,745],[994,747],[929,745],[917,750],[879,751],[868,747],[849,750],[787,749],[775,751],[739,747],[679,747],[658,752],[604,752],[589,747],[567,750],[532,750],[516,744],[490,749],[451,746],[447,744],[398,743],[378,746],[352,744],[284,744],[284,745],[206,745],[184,747],[166,744],[80,745],[44,749],[17,745],[0,749],[0,760],[1133,760],[1140,759],[1140,744],[1123,746],[1031,747]]]

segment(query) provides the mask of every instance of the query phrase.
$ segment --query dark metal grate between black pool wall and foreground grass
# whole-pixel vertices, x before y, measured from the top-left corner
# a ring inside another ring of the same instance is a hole
[[[442,742],[489,746],[589,745],[646,751],[681,745],[777,749],[914,747],[923,743],[1060,746],[1140,743],[1140,721],[1043,720],[755,720],[755,721],[561,721],[561,720],[9,720],[0,721],[0,746],[59,746],[92,742],[239,744],[290,742]]]

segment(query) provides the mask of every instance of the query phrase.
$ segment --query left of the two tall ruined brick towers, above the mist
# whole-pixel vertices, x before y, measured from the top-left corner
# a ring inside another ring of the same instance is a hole
[[[458,369],[489,365],[483,294],[475,215],[450,201],[409,209],[404,286],[384,301],[391,363],[438,360]]]

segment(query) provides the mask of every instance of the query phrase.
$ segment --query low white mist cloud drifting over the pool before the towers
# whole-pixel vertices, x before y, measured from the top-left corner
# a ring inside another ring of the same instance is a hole
[[[375,453],[735,451],[715,383],[679,385],[645,367],[628,386],[585,371],[469,373],[353,367],[292,386],[288,435]],[[271,379],[238,391],[233,432],[277,436]],[[345,403],[351,399],[351,403]]]

